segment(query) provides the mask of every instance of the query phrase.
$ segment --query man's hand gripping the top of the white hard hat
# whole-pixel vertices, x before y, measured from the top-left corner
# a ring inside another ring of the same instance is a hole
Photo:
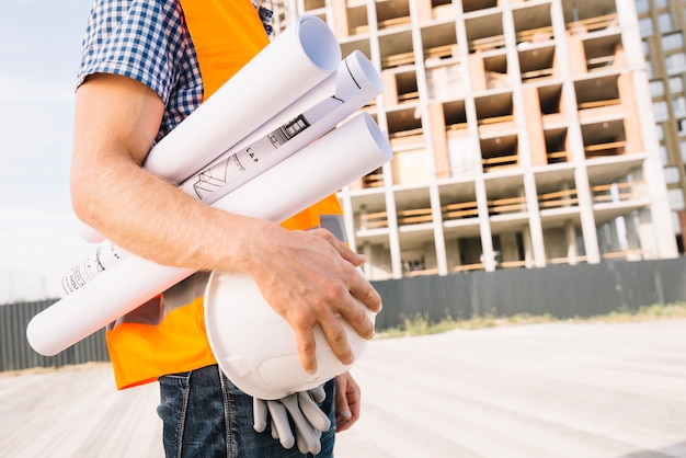
[[[325,229],[265,226],[239,268],[253,277],[264,299],[294,329],[305,370],[317,370],[317,325],[335,356],[352,364],[354,354],[340,318],[363,339],[371,339],[374,323],[367,313],[381,310],[380,296],[357,270],[365,257]]]

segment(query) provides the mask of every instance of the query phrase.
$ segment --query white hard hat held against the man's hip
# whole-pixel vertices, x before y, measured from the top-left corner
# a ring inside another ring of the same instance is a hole
[[[374,320],[374,312],[368,314]],[[357,359],[367,341],[341,322]],[[300,365],[293,328],[244,274],[211,273],[205,289],[205,328],[221,370],[239,389],[259,399],[281,399],[316,388],[351,367],[335,357],[316,327],[317,373],[307,374]]]

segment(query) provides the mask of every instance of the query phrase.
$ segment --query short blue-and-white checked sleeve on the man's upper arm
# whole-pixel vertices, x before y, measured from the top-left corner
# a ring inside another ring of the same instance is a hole
[[[77,87],[93,73],[119,75],[169,101],[183,57],[178,1],[96,0],[89,19]]]

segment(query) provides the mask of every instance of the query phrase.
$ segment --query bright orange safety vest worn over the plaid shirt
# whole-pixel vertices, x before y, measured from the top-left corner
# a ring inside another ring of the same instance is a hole
[[[268,44],[250,0],[180,0],[197,54],[207,100]],[[275,76],[276,78],[277,76]],[[343,236],[335,195],[282,224],[287,229],[328,227]],[[155,381],[159,376],[216,364],[205,333],[203,293],[207,276],[196,274],[123,317],[106,331],[107,348],[118,389]],[[170,307],[169,304],[174,302]],[[145,308],[159,320],[137,319]],[[171,309],[164,313],[164,309]]]

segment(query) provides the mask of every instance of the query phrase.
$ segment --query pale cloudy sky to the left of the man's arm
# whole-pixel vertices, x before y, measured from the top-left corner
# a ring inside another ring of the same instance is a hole
[[[93,0],[0,0],[0,304],[61,297],[94,245],[69,198],[75,80]]]

